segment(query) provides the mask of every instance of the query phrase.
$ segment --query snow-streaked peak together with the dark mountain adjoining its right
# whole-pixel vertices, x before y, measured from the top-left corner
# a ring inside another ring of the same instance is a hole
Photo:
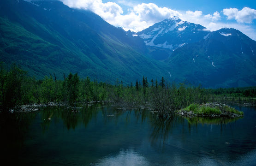
[[[256,41],[232,28],[205,29],[173,17],[137,35],[150,58],[168,64],[171,81],[211,88],[256,85]]]

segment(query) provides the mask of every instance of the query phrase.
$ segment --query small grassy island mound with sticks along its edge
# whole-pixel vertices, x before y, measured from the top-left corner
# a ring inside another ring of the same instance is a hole
[[[242,117],[244,113],[221,103],[191,104],[177,112],[182,116],[190,117]]]

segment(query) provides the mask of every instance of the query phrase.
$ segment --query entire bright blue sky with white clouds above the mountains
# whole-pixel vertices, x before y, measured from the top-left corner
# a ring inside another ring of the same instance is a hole
[[[61,0],[124,30],[141,31],[178,16],[207,30],[235,28],[256,40],[256,0]]]

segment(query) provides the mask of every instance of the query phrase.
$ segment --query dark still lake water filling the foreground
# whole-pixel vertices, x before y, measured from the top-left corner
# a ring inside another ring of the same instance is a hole
[[[244,118],[164,119],[149,110],[49,107],[2,120],[2,151],[10,164],[26,166],[256,165],[256,110],[236,108]]]

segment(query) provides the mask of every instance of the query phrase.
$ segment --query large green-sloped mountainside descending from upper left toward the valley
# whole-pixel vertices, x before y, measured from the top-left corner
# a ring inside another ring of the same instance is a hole
[[[127,34],[93,12],[60,1],[0,1],[0,61],[17,62],[43,78],[78,72],[81,77],[126,83],[160,78],[165,64],[147,58],[140,37]]]

